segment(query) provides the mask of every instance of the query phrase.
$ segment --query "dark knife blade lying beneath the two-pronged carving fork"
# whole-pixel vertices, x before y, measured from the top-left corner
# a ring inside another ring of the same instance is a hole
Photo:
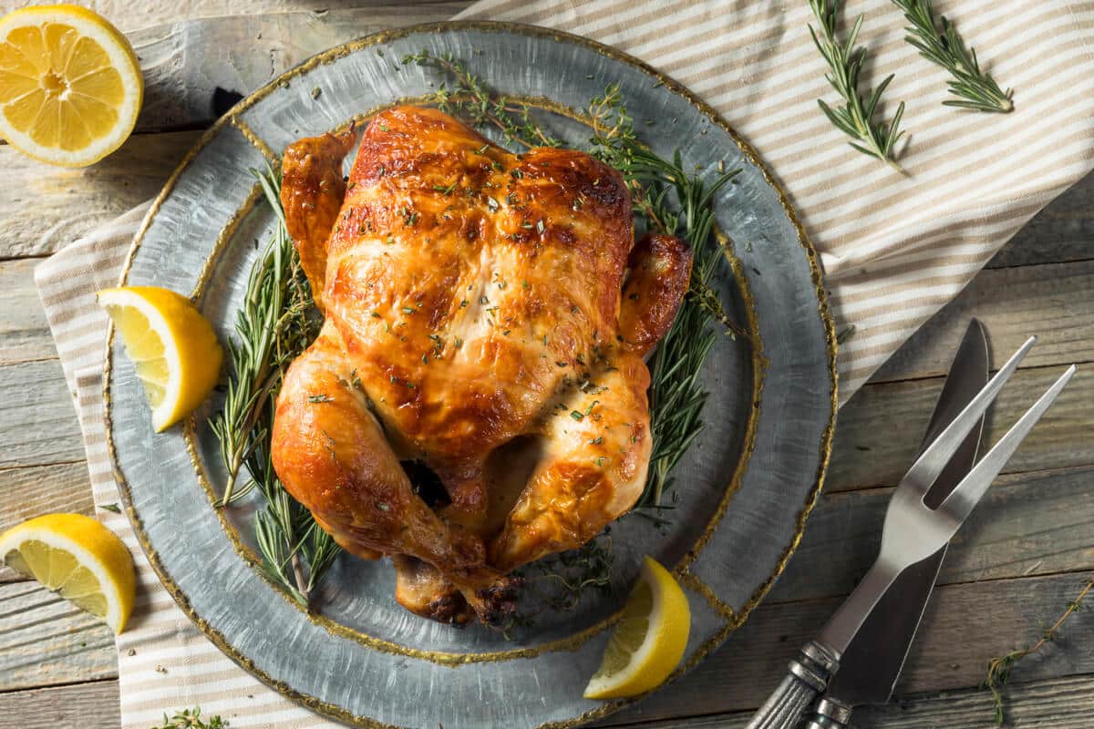
[[[987,381],[988,342],[984,326],[973,319],[950,366],[920,451],[945,430]],[[971,469],[982,428],[981,416],[928,492],[928,506],[941,504]],[[943,546],[901,573],[843,652],[839,672],[833,677],[822,701],[836,702],[847,708],[861,704],[884,704],[889,699],[945,554],[946,548]],[[848,717],[849,713],[841,717],[841,721],[846,724]]]

